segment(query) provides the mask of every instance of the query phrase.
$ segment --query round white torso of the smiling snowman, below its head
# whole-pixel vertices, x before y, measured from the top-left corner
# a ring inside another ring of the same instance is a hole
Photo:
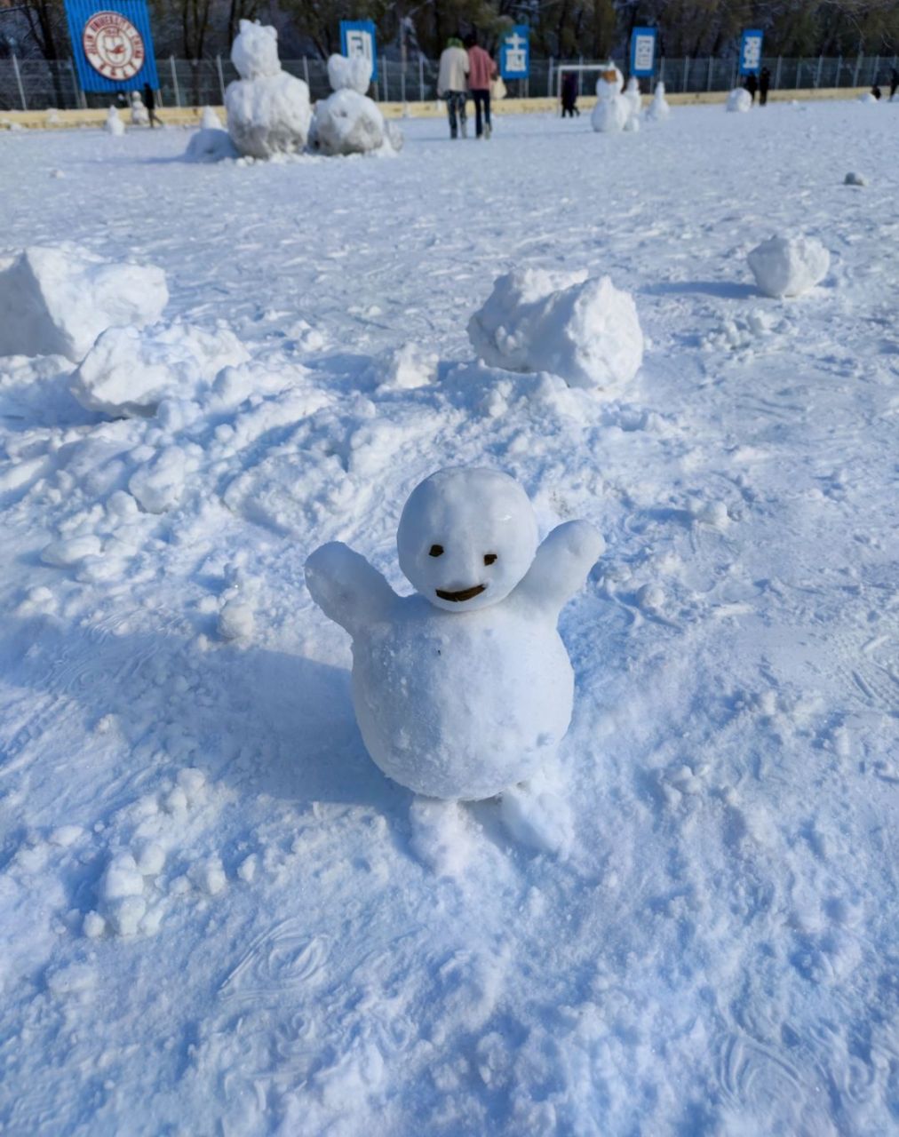
[[[422,596],[353,639],[352,702],[372,758],[428,797],[481,799],[532,777],[568,729],[574,672],[555,621],[515,595],[451,613]]]

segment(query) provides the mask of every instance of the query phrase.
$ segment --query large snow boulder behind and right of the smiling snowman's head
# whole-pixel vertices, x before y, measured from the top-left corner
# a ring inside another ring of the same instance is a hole
[[[627,292],[608,276],[525,268],[500,276],[468,322],[477,355],[506,371],[548,371],[571,387],[618,392],[643,360]]]

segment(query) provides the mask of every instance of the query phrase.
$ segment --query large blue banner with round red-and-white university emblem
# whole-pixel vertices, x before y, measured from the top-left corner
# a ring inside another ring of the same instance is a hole
[[[153,35],[144,0],[66,0],[82,91],[156,91]]]

